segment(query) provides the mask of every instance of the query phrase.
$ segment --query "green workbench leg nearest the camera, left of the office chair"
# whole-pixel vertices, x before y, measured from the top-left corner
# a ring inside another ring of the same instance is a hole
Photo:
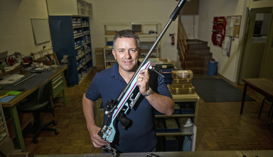
[[[21,130],[20,122],[19,122],[16,105],[10,107],[10,115],[11,115],[12,124],[15,131],[18,147],[19,149],[22,149],[24,152],[26,152],[26,147],[25,147],[25,143],[24,143],[24,139],[22,135],[22,130]]]

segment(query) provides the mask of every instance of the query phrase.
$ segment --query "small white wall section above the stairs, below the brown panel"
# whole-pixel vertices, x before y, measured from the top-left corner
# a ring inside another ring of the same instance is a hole
[[[182,15],[180,16],[180,20],[188,39],[197,39],[199,15]]]

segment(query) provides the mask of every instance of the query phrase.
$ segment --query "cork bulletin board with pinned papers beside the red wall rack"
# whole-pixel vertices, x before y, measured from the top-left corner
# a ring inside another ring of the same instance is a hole
[[[239,38],[240,27],[241,27],[242,16],[228,16],[227,26],[225,30],[226,36],[232,36],[234,38]]]

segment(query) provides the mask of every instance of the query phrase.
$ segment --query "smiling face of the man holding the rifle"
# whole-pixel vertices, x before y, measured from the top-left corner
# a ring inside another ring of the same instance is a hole
[[[138,51],[135,38],[118,38],[116,50],[112,50],[115,59],[118,61],[119,70],[123,72],[135,72],[141,49]]]

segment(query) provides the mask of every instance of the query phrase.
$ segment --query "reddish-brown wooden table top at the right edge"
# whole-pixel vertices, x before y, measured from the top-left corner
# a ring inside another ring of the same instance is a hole
[[[244,81],[245,83],[247,83],[248,85],[250,85],[253,88],[259,89],[262,92],[264,92],[270,96],[273,96],[273,79],[251,78],[251,79],[242,79],[242,81]]]

